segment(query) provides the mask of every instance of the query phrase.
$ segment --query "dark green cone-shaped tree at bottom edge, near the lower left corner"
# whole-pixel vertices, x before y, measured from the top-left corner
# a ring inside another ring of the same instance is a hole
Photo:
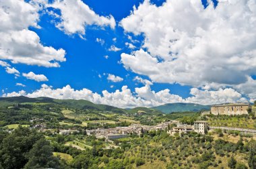
[[[59,160],[53,156],[53,148],[45,139],[39,139],[26,155],[28,163],[24,168],[59,168]]]

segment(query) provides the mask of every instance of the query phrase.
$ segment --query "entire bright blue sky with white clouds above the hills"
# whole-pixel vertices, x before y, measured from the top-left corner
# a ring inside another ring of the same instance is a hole
[[[256,100],[255,0],[0,0],[0,96]]]

